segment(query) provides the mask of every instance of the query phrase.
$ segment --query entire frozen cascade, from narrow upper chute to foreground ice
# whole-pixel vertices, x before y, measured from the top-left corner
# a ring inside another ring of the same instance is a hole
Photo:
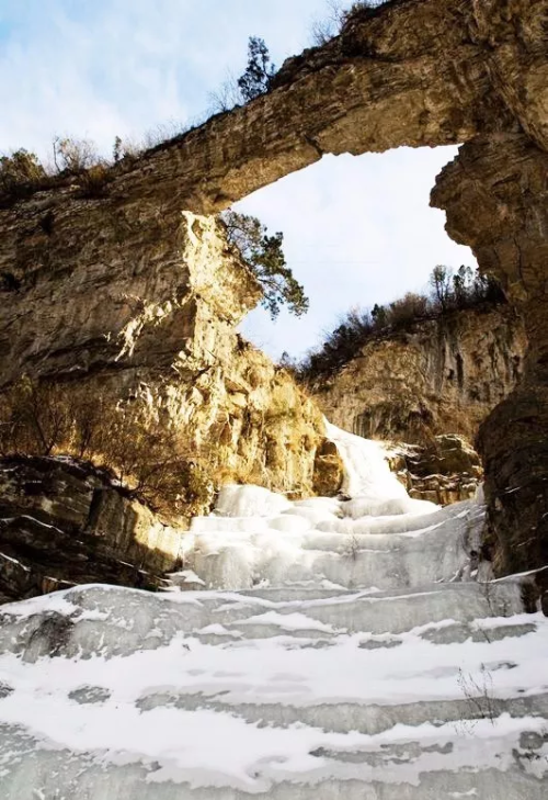
[[[170,594],[0,607],[2,800],[546,800],[548,620],[471,579],[481,504],[330,435],[351,499],[227,487]]]

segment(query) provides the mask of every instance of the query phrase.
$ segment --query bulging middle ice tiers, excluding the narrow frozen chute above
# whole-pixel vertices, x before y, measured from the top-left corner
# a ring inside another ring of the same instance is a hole
[[[336,503],[344,515],[349,504]],[[477,549],[484,515],[473,502],[435,512],[429,508],[426,515],[388,517],[340,518],[332,504],[324,512],[295,504],[282,515],[261,518],[255,530],[241,525],[249,518],[196,520],[185,570],[194,571],[207,588],[231,590],[311,578],[346,588],[463,579],[469,574],[469,553]],[[218,526],[218,520],[233,525]],[[185,588],[176,575],[172,581]]]

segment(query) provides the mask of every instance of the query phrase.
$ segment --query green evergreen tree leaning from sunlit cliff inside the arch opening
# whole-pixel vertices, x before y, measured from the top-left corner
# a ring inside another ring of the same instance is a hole
[[[296,316],[308,311],[308,297],[287,267],[282,249],[282,233],[269,236],[266,227],[254,216],[226,211],[221,221],[227,241],[253,272],[263,290],[262,305],[275,319],[282,305]]]

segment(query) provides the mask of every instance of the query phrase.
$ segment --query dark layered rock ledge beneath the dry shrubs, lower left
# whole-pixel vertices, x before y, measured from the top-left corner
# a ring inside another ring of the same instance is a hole
[[[153,589],[182,536],[91,464],[0,460],[0,601],[87,583]]]

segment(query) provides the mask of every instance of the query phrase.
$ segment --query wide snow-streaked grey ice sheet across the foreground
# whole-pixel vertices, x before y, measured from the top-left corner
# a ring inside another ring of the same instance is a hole
[[[509,586],[496,591],[510,599]],[[352,632],[318,612],[333,601],[350,622],[364,601],[397,597],[308,600],[302,591],[290,606],[264,606],[261,593],[84,587],[58,595],[55,612],[49,598],[42,609],[33,602],[31,617],[25,604],[8,607],[2,800],[77,790],[88,800],[357,800],[369,789],[383,800],[472,789],[487,800],[540,800],[548,620],[458,623],[463,605],[483,596],[476,584],[457,595],[452,619],[383,634],[368,632],[366,618]]]

